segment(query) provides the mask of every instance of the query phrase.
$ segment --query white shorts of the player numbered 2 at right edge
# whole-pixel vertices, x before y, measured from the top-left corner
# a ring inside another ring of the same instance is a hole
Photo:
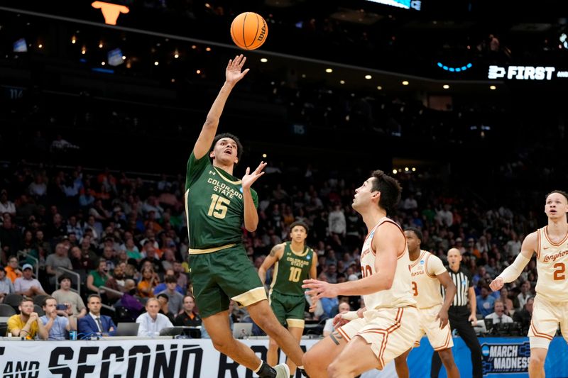
[[[530,348],[548,349],[558,330],[558,323],[568,343],[568,302],[552,302],[537,294],[528,330]]]

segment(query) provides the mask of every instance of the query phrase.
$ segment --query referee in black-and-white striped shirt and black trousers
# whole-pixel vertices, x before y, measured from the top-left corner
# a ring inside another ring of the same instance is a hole
[[[457,248],[448,251],[449,277],[452,278],[457,287],[457,293],[454,297],[452,306],[449,306],[448,318],[449,326],[452,330],[457,329],[461,339],[466,343],[467,348],[471,351],[471,365],[474,368],[473,378],[481,378],[481,345],[475,334],[472,322],[477,321],[476,317],[476,299],[474,284],[471,282],[471,273],[469,270],[461,267],[461,252]],[[470,308],[467,308],[469,297]],[[437,378],[439,369],[442,367],[442,361],[439,355],[432,355],[431,378]]]

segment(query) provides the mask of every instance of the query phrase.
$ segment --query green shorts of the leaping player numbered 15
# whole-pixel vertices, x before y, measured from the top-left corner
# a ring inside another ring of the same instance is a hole
[[[202,318],[229,309],[233,299],[249,306],[266,299],[266,291],[242,245],[190,255],[195,304]]]

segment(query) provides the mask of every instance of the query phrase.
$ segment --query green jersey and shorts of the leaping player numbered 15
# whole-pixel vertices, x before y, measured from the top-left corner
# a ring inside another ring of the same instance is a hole
[[[258,195],[251,189],[255,207]],[[213,167],[209,156],[187,161],[185,213],[190,271],[202,318],[229,309],[229,299],[249,306],[266,293],[242,244],[244,199],[241,180]]]

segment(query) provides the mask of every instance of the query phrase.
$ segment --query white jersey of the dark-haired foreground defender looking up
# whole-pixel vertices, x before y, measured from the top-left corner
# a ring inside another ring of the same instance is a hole
[[[365,238],[365,243],[363,244],[363,250],[361,252],[361,274],[363,277],[377,273],[375,270],[376,251],[373,250],[373,236],[376,230],[387,222],[396,225],[404,237],[403,230],[398,224],[390,218],[381,218],[381,221],[378,221],[377,225],[368,233]],[[410,259],[408,258],[408,247],[405,243],[404,250],[397,256],[395,277],[391,289],[381,290],[363,296],[365,306],[368,310],[398,308],[416,304],[416,301],[413,299],[412,289],[410,288],[410,269],[408,265],[410,265]]]

